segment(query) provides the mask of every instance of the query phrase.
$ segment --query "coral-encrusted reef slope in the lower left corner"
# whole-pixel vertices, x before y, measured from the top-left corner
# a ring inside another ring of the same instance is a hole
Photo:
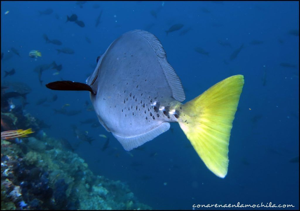
[[[36,133],[1,140],[1,209],[151,209],[125,183],[94,175],[61,140],[48,137],[36,118],[13,112],[1,113],[1,126],[5,119],[11,130]]]

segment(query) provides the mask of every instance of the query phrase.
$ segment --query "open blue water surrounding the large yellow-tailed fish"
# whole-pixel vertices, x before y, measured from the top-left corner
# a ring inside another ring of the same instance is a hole
[[[52,14],[39,15],[38,11],[48,8],[53,9]],[[96,28],[101,10],[101,23]],[[5,11],[9,13],[5,15]],[[65,23],[71,14],[77,14],[85,27]],[[166,35],[165,31],[178,23],[184,27]],[[188,27],[192,30],[180,35]],[[96,118],[94,111],[85,110],[85,101],[90,102],[88,92],[45,87],[61,78],[85,83],[97,56],[133,29],[148,30],[161,41],[169,63],[182,80],[186,101],[226,77],[244,75],[224,179],[205,167],[177,123],[171,124],[173,132],[147,142],[143,150],[128,153],[102,126],[91,128],[79,123]],[[14,47],[21,56],[13,54],[1,61],[1,82],[21,81],[32,88],[25,110],[51,125],[44,129],[49,136],[65,137],[76,145],[79,140],[70,125],[88,131],[95,141],[91,145],[81,143],[75,152],[95,174],[127,182],[137,198],[153,209],[238,202],[292,204],[298,209],[299,163],[289,160],[299,155],[299,35],[290,34],[290,30],[299,30],[298,2],[86,2],[82,8],[76,2],[1,2],[1,53],[5,56]],[[62,45],[46,43],[44,33]],[[263,43],[253,45],[253,40]],[[241,44],[244,48],[230,61]],[[55,49],[62,47],[75,53],[58,54]],[[197,53],[195,47],[205,49],[209,56]],[[42,57],[30,58],[30,50],[41,51]],[[41,86],[34,68],[52,61],[62,64],[63,69],[58,75],[53,75],[54,70],[44,71]],[[280,66],[282,62],[295,67]],[[12,68],[16,73],[4,78],[4,71]],[[57,101],[35,105],[38,99],[51,99],[54,94]],[[64,104],[82,113],[54,114],[53,109]],[[105,139],[99,134],[110,137],[105,151]]]

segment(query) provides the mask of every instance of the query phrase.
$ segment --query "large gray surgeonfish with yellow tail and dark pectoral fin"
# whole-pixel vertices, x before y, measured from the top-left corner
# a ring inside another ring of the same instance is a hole
[[[208,169],[226,176],[242,75],[228,77],[183,104],[181,80],[155,35],[127,32],[97,60],[86,83],[56,81],[46,87],[89,91],[99,122],[127,151],[166,132],[170,122],[178,122]]]

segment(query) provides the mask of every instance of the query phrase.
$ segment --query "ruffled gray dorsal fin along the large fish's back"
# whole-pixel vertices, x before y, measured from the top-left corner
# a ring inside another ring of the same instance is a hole
[[[182,102],[185,100],[185,93],[184,89],[181,83],[180,78],[176,74],[173,67],[169,64],[167,61],[167,54],[161,44],[161,42],[158,40],[158,38],[151,34],[150,32],[146,32],[143,30],[133,30],[128,33],[136,33],[143,37],[148,44],[152,47],[152,50],[156,53],[158,62],[160,63],[164,75],[167,79],[167,83],[172,91],[172,96],[179,102]]]

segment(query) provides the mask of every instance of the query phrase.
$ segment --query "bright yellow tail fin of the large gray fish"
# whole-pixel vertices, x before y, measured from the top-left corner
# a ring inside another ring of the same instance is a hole
[[[243,85],[242,75],[226,78],[178,109],[184,134],[206,167],[221,178],[227,174],[230,131]]]

